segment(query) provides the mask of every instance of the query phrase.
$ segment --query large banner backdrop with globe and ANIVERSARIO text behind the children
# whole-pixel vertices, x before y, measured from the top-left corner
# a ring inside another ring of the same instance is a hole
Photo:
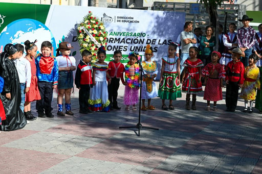
[[[185,13],[181,12],[0,3],[0,52],[7,43],[37,39],[40,51],[42,41],[51,41],[54,50],[61,41],[68,41],[79,62],[76,28],[89,11],[104,22],[107,31],[105,61],[113,60],[114,51],[119,49],[122,63],[128,61],[129,52],[143,55],[145,46],[150,44],[154,50],[152,59],[160,64],[167,55],[168,44],[177,40],[185,22]]]

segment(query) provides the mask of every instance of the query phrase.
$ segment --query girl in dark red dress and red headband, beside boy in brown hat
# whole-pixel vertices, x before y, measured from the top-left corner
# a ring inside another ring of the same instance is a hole
[[[223,100],[222,87],[223,79],[226,78],[225,70],[217,61],[221,58],[220,52],[213,51],[211,54],[211,63],[208,63],[202,70],[202,76],[205,77],[204,100],[207,100],[206,110],[210,109],[210,101],[214,102],[213,110],[216,109],[216,102]]]

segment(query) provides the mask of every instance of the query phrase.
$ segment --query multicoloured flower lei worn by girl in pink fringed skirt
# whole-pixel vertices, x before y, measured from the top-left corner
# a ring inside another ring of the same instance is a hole
[[[137,63],[134,64],[135,66],[135,76],[130,77],[129,76],[129,67],[130,67],[130,63],[128,62],[125,65],[125,80],[127,82],[127,86],[129,86],[130,88],[135,88],[135,87],[140,87],[140,83],[139,83],[139,65]]]

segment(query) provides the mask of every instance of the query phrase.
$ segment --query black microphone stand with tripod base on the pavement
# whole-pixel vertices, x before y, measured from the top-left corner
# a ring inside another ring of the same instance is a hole
[[[144,73],[143,72],[143,69],[142,69],[142,66],[141,66],[141,63],[140,61],[139,62],[139,71],[140,71],[140,89],[139,89],[139,113],[138,113],[138,123],[136,126],[127,126],[127,127],[119,127],[119,129],[122,129],[122,128],[137,128],[138,129],[138,136],[140,136],[140,129],[154,129],[154,130],[159,130],[158,128],[151,128],[151,127],[144,127],[142,126],[141,124],[141,91],[142,91],[142,74]]]

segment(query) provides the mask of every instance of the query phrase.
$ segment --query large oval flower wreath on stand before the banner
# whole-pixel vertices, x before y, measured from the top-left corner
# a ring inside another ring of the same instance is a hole
[[[92,63],[97,60],[97,51],[100,46],[106,46],[105,27],[103,22],[95,17],[91,11],[84,16],[77,26],[77,39],[80,46],[80,53],[85,49],[92,53]],[[95,40],[94,40],[95,39]]]

